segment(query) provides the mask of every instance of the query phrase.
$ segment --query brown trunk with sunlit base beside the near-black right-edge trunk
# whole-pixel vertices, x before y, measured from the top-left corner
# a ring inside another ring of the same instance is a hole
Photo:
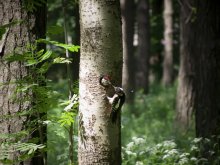
[[[192,32],[189,24],[191,22],[187,18],[190,16],[191,8],[186,4],[181,5],[180,12],[180,70],[176,99],[176,122],[178,127],[183,130],[186,130],[190,125],[195,100],[195,87],[193,86],[195,64],[192,62],[194,57],[191,55],[187,44],[195,39],[190,36]]]

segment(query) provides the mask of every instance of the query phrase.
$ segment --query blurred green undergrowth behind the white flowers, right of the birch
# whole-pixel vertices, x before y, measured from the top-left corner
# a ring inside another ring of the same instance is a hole
[[[146,138],[151,144],[174,136],[176,86],[152,84],[149,89],[148,95],[137,92],[134,105],[123,108],[123,145],[134,136]]]

